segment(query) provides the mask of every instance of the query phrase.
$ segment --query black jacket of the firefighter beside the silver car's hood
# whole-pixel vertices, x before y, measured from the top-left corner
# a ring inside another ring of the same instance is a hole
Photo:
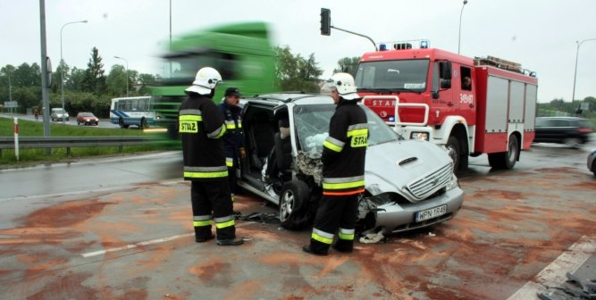
[[[355,195],[365,190],[368,124],[357,101],[340,99],[323,142],[323,195]]]

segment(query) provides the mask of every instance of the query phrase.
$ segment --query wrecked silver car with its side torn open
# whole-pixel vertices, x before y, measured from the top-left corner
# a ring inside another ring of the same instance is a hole
[[[277,204],[284,228],[312,226],[323,194],[323,141],[335,112],[331,96],[270,94],[242,99],[240,104],[248,154],[241,162],[239,186]],[[446,151],[431,142],[401,138],[361,107],[369,137],[357,231],[395,233],[453,218],[463,203],[463,191]],[[277,126],[281,119],[290,122],[285,139]],[[263,171],[272,149],[279,172],[265,184]]]

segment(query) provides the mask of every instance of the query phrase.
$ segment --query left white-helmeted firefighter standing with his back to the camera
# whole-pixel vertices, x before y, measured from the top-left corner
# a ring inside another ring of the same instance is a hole
[[[225,124],[222,114],[213,102],[215,86],[222,76],[214,68],[197,72],[192,86],[186,89],[187,98],[180,104],[178,126],[184,157],[184,179],[191,181],[195,241],[206,242],[215,236],[217,245],[238,246],[243,239],[236,238],[234,216],[225,164],[222,137]]]

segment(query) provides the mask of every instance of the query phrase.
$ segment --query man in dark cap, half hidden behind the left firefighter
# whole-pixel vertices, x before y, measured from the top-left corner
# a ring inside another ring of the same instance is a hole
[[[236,194],[236,181],[238,180],[239,159],[244,159],[247,152],[244,149],[244,136],[242,132],[242,118],[240,117],[240,94],[238,88],[228,87],[225,90],[219,110],[222,112],[225,121],[226,132],[223,135],[223,146],[225,148],[225,164],[228,166],[228,178],[230,179],[231,201],[234,202]],[[235,216],[239,212],[234,212]]]

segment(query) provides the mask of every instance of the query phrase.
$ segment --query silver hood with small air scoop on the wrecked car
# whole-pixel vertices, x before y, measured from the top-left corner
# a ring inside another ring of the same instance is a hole
[[[372,195],[396,192],[416,202],[419,199],[412,196],[407,187],[441,170],[444,173],[448,165],[452,168],[445,150],[423,140],[369,146],[366,149],[365,188]]]

